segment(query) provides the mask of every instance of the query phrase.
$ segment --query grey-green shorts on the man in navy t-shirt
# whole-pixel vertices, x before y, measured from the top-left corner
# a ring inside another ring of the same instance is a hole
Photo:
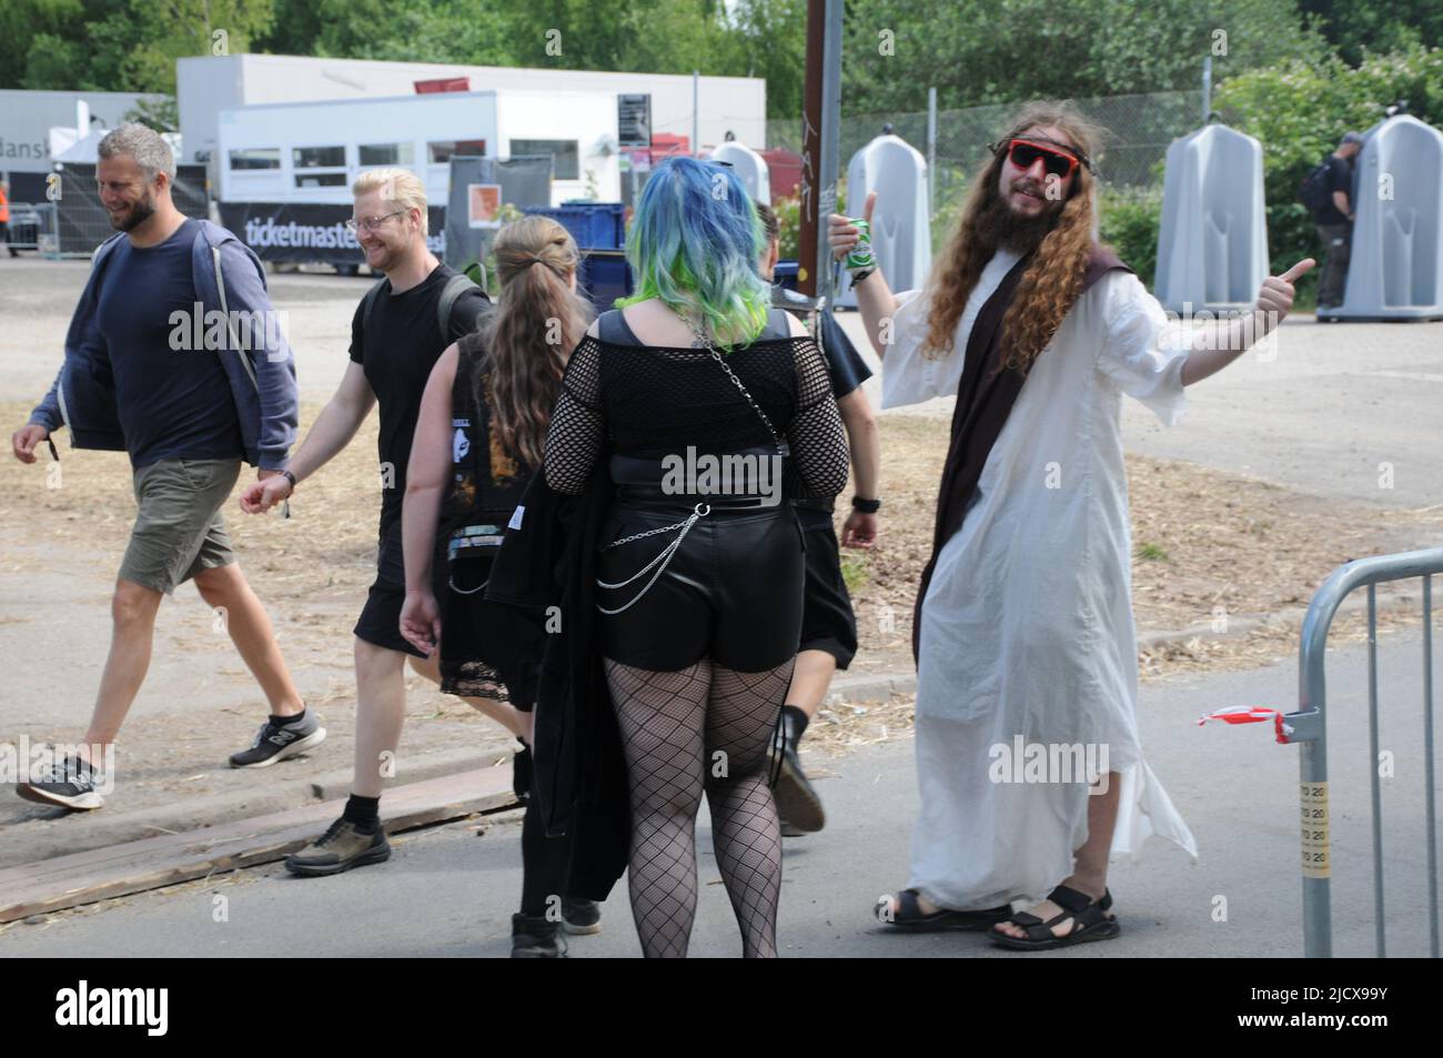
[[[121,579],[170,595],[196,573],[235,561],[221,508],[240,475],[238,459],[162,459],[137,468],[140,510]]]

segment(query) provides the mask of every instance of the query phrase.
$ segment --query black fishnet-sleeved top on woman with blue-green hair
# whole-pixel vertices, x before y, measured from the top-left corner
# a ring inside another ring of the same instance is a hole
[[[847,437],[827,361],[807,336],[722,349],[789,449],[784,488],[831,498],[847,485]],[[547,484],[577,494],[603,452],[661,459],[772,449],[772,436],[707,349],[619,345],[587,335],[561,380],[545,446]]]

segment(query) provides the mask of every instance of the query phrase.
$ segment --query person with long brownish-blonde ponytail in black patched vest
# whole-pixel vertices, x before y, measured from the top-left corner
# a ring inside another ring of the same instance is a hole
[[[481,587],[506,523],[541,466],[561,375],[593,312],[576,293],[576,242],[556,221],[524,217],[492,247],[501,294],[478,329],[442,354],[426,384],[411,445],[403,508],[405,605],[401,635],[431,654],[440,648],[442,690],[502,697],[530,712],[524,673],[498,673],[476,654]],[[444,517],[443,517],[444,511]],[[446,598],[431,590],[436,540],[447,541]],[[528,742],[530,739],[524,739]],[[519,772],[518,772],[519,775]],[[518,781],[519,795],[530,792]],[[512,917],[512,957],[558,957],[561,931],[596,932],[597,911],[567,901],[570,841],[548,839],[528,798],[521,850],[521,912]],[[563,896],[563,921],[547,898]]]

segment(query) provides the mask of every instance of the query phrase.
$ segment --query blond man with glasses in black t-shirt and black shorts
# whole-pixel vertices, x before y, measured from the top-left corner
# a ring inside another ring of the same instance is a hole
[[[289,473],[247,489],[241,505],[261,512],[290,497],[296,485],[343,449],[372,404],[381,406],[377,456],[381,463],[381,517],[377,577],[355,626],[355,778],[345,814],[310,846],[286,860],[297,875],[335,875],[390,857],[380,821],[381,790],[395,774],[395,748],[405,717],[405,658],[440,683],[436,657],[424,657],[401,637],[405,572],[401,559],[401,499],[405,466],[426,380],[442,352],[476,329],[489,302],[465,276],[426,247],[426,191],[405,169],[374,169],[352,186],[355,215],[348,227],[367,264],[385,274],[356,306],[351,320],[351,362],[341,387],[312,424]],[[436,573],[446,577],[446,561]],[[466,699],[512,733],[522,719],[509,704]]]

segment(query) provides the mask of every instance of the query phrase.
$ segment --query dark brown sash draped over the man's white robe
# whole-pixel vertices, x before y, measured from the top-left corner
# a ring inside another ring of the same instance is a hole
[[[1012,414],[1012,406],[1027,381],[1020,371],[1003,367],[1006,352],[1001,342],[1001,320],[1007,315],[1017,284],[1032,261],[1027,254],[1003,277],[991,297],[983,305],[967,338],[962,359],[962,377],[957,385],[957,410],[952,413],[952,439],[942,466],[942,485],[937,495],[937,527],[932,533],[932,556],[922,570],[922,583],[916,589],[916,603],[912,609],[912,660],[919,657],[922,639],[922,600],[942,546],[962,527],[962,512],[977,491],[977,482],[987,465],[987,455],[1001,434],[1001,427]],[[1088,254],[1087,273],[1082,277],[1082,293],[1102,279],[1104,274],[1121,268],[1131,271],[1113,253],[1100,245]]]

